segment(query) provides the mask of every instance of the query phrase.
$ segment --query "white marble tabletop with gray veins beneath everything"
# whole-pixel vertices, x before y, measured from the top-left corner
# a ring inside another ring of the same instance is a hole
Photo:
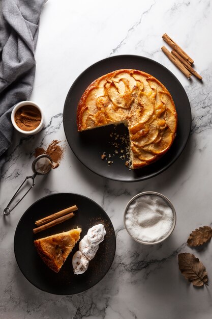
[[[15,135],[1,180],[1,318],[211,318],[212,243],[201,249],[185,244],[193,229],[212,224],[211,30],[209,0],[49,0],[45,4],[31,99],[42,105],[46,129],[31,138]],[[202,83],[194,77],[188,81],[163,55],[161,36],[165,32],[193,57]],[[4,219],[3,208],[31,170],[35,147],[53,139],[65,141],[63,107],[75,78],[94,62],[119,54],[152,58],[183,84],[192,109],[192,131],[183,154],[155,178],[120,183],[88,171],[67,145],[61,165],[43,181],[38,177],[39,185]],[[175,206],[177,224],[162,245],[141,246],[124,229],[124,208],[141,191],[160,192]],[[23,277],[13,252],[14,232],[23,212],[37,199],[57,192],[95,200],[111,218],[117,235],[110,271],[99,284],[77,296],[54,296],[35,288]],[[183,278],[178,270],[180,252],[201,259],[209,286],[197,289]]]

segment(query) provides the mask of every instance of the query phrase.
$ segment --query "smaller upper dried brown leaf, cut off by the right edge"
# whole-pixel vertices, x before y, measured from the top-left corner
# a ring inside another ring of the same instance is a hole
[[[203,226],[199,229],[193,230],[190,234],[187,244],[189,246],[199,246],[207,243],[212,237],[212,229],[209,226]]]

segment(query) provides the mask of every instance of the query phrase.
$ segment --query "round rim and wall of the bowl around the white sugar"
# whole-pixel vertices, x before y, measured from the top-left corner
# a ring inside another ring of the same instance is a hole
[[[173,223],[172,223],[172,226],[169,230],[169,232],[160,240],[160,241],[157,241],[157,242],[143,242],[143,241],[140,241],[138,240],[137,238],[134,238],[132,236],[132,234],[129,232],[127,226],[126,226],[126,214],[127,214],[127,210],[128,210],[128,207],[129,205],[137,198],[137,197],[140,197],[140,196],[143,196],[143,195],[158,195],[160,197],[162,197],[166,203],[168,204],[168,206],[171,208],[172,212],[173,212]],[[165,241],[172,233],[172,231],[174,230],[175,228],[175,225],[176,225],[176,211],[174,209],[174,206],[172,205],[172,203],[170,202],[170,200],[165,197],[164,195],[160,194],[160,193],[157,193],[157,192],[143,192],[143,193],[139,193],[137,194],[136,196],[134,196],[133,198],[131,198],[131,200],[128,202],[126,208],[125,208],[125,214],[124,214],[124,225],[125,225],[125,229],[127,230],[127,232],[129,233],[129,235],[133,238],[134,241],[140,243],[140,244],[143,244],[143,245],[156,245],[156,244],[159,244],[163,241]]]

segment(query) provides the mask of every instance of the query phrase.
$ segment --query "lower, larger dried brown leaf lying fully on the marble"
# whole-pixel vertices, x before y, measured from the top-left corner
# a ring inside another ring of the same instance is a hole
[[[190,253],[178,255],[179,270],[186,279],[191,281],[194,286],[203,286],[207,284],[207,272],[199,258]]]

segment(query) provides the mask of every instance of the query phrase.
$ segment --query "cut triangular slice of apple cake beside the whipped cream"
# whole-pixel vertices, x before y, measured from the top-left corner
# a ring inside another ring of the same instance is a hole
[[[81,231],[81,228],[76,228],[34,241],[40,257],[55,273],[58,273],[78,242]]]

